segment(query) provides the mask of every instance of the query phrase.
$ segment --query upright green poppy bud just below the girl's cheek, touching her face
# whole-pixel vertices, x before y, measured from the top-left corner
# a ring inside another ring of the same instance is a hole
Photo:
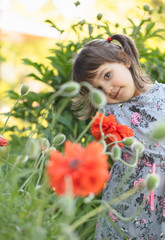
[[[107,102],[105,94],[99,89],[92,89],[90,97],[93,106],[96,108],[104,107]]]

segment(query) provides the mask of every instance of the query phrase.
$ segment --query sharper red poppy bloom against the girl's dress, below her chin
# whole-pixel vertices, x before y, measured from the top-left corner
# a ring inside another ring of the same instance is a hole
[[[103,113],[100,113],[91,125],[91,133],[97,141],[101,138],[100,120],[103,115]],[[114,115],[109,115],[108,117],[105,115],[103,116],[102,129],[104,135],[112,134],[116,137],[117,141],[121,141],[126,137],[132,137],[134,135],[133,130],[129,128],[128,125],[121,125],[119,122],[117,122]],[[106,143],[109,144],[111,142],[115,142],[115,137],[106,138]],[[118,145],[123,147],[122,143],[118,143]]]

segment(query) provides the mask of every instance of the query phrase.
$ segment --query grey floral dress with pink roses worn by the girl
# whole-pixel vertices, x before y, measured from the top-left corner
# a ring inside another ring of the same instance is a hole
[[[139,157],[136,168],[115,161],[102,201],[108,202],[143,183],[152,172],[160,176],[160,183],[148,196],[141,212],[131,221],[119,220],[110,209],[100,213],[94,240],[165,240],[165,144],[151,142],[148,137],[152,127],[165,120],[165,85],[155,82],[148,92],[128,102],[107,105],[106,113],[114,114],[120,124],[129,125],[134,130],[134,137],[144,144],[145,152]],[[133,161],[130,148],[122,149],[122,159],[127,163]],[[146,193],[144,188],[112,207],[122,217],[131,217]]]

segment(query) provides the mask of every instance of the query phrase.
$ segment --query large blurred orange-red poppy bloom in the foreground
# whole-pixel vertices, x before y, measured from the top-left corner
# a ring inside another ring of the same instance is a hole
[[[48,164],[50,186],[58,195],[66,193],[66,177],[72,180],[74,196],[98,194],[108,178],[107,155],[103,145],[91,142],[86,148],[80,144],[65,142],[64,154],[52,151]]]

